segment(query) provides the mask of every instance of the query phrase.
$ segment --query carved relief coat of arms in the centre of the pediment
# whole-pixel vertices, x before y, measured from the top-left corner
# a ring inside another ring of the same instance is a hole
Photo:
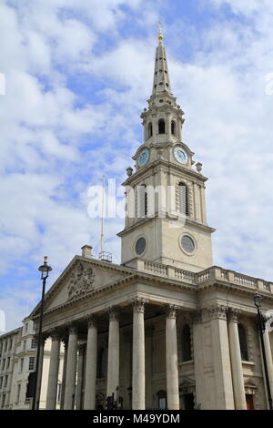
[[[95,273],[93,268],[78,261],[68,280],[67,301],[72,301],[76,297],[94,290],[94,280]]]

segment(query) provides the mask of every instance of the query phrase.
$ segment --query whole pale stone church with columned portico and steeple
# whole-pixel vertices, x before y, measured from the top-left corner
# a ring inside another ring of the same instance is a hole
[[[56,409],[63,342],[62,409],[268,409],[253,296],[273,310],[273,283],[213,264],[207,178],[183,142],[161,32],[153,79],[124,182],[121,264],[84,245],[45,294],[46,408]],[[273,395],[270,329],[263,338]]]

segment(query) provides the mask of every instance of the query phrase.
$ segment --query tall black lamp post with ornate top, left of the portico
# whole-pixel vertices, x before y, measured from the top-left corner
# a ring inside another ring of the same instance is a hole
[[[37,353],[36,353],[36,364],[35,364],[35,380],[34,380],[34,394],[32,401],[32,410],[38,410],[39,408],[39,397],[37,395],[37,382],[38,382],[38,371],[39,371],[39,363],[40,363],[40,348],[42,342],[42,328],[43,328],[43,314],[44,314],[44,298],[45,298],[45,283],[48,278],[49,272],[52,270],[50,266],[47,264],[47,257],[44,257],[44,264],[41,265],[38,270],[41,272],[41,280],[43,280],[43,288],[42,288],[42,299],[41,299],[41,307],[40,307],[40,320],[39,320],[39,331],[38,331],[38,340],[37,340]]]

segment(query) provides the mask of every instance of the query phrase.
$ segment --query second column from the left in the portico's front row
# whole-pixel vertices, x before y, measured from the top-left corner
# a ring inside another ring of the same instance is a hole
[[[77,328],[71,325],[69,329],[67,363],[66,363],[66,392],[65,410],[73,410],[76,392],[76,352],[77,352]]]

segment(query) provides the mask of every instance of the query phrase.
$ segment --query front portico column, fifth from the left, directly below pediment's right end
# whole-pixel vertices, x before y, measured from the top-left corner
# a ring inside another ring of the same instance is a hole
[[[144,306],[147,301],[136,299],[133,303],[133,380],[132,408],[145,410],[145,330]]]

